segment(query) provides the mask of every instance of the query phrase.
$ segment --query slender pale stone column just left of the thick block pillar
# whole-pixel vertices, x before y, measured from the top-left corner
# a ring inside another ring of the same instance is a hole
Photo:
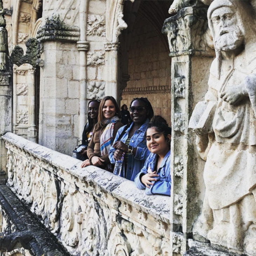
[[[35,68],[28,70],[31,75],[31,83],[28,88],[28,140],[36,142],[37,130],[35,120]]]

